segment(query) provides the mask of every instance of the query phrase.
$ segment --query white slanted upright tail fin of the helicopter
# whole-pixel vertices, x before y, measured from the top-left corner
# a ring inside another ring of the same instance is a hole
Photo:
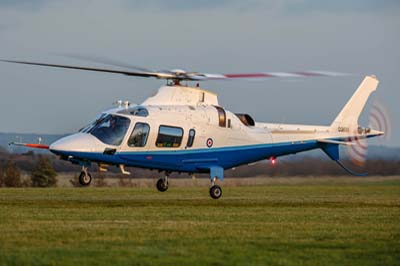
[[[357,127],[358,117],[364,109],[368,97],[376,90],[376,87],[378,87],[378,83],[379,81],[375,76],[366,76],[356,92],[333,121],[331,127],[339,131],[348,131],[354,126]]]

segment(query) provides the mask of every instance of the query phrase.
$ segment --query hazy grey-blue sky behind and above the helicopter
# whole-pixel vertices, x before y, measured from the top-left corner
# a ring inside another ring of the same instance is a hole
[[[348,77],[209,81],[222,106],[257,121],[329,125],[365,75],[400,146],[400,2],[378,0],[0,0],[0,58],[206,73],[328,70]],[[0,132],[74,132],[117,100],[141,103],[164,81],[0,63]]]

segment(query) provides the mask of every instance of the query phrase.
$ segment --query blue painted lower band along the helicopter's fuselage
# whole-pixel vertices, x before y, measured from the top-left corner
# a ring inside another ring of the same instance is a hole
[[[276,144],[256,144],[246,146],[231,146],[207,149],[187,150],[154,150],[117,152],[107,155],[98,152],[52,151],[58,155],[73,156],[74,158],[124,164],[150,169],[160,169],[180,172],[201,172],[211,166],[229,169],[235,166],[319,148],[316,140],[303,142],[283,142]]]

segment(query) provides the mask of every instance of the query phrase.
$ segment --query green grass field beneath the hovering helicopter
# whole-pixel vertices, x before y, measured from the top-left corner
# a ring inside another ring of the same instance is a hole
[[[265,180],[2,188],[0,264],[400,265],[400,178]]]

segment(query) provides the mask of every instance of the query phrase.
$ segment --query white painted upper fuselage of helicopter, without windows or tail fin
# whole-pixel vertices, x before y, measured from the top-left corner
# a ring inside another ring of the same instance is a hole
[[[70,150],[80,152],[103,152],[105,148],[114,148],[118,152],[142,152],[162,150],[209,149],[207,140],[212,139],[211,148],[236,147],[257,144],[299,144],[309,140],[337,139],[345,141],[347,138],[366,138],[380,132],[372,130],[369,133],[359,134],[357,130],[340,132],[332,126],[290,125],[255,123],[254,126],[245,125],[234,113],[225,110],[226,126],[219,126],[217,95],[185,86],[164,86],[159,92],[148,98],[140,106],[148,111],[148,116],[131,115],[130,107],[119,107],[105,113],[116,114],[130,119],[131,123],[127,134],[118,147],[107,145],[90,134],[77,133],[63,138],[52,144],[51,150]],[[229,121],[229,122],[228,122]],[[150,133],[145,147],[130,147],[128,139],[135,124],[147,123]],[[183,129],[183,139],[179,147],[156,147],[156,139],[160,125],[180,127]],[[196,131],[192,147],[187,147],[190,129]]]

